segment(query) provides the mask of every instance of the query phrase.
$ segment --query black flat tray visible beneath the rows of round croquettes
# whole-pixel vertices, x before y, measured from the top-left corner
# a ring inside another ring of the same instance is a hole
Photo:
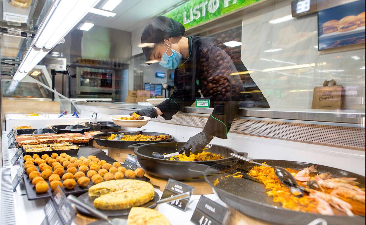
[[[71,155],[71,156],[74,156],[74,157],[79,158],[81,156],[87,157],[89,155],[95,155],[98,159],[105,160],[105,161],[107,161],[107,163],[111,163],[112,164],[113,162],[116,162],[116,160],[114,160],[111,157],[109,157],[108,155],[106,155],[104,151],[99,150],[96,147],[89,147],[89,146],[85,146],[85,147],[80,148],[78,154]],[[38,169],[38,166],[37,166],[37,169]],[[150,181],[150,179],[147,178],[146,176],[144,176],[143,178],[136,178],[136,179],[139,179],[141,181]],[[36,193],[36,187],[32,184],[31,180],[28,178],[28,176],[26,174],[23,176],[23,181],[24,181],[25,191],[27,193],[28,200],[36,200],[36,199],[42,199],[42,198],[49,198],[49,197],[52,196],[52,190],[51,190],[51,188],[48,189],[48,191],[45,192],[45,193]],[[45,181],[49,185],[48,180],[45,180]],[[79,194],[79,193],[85,193],[85,192],[87,192],[88,189],[89,189],[89,187],[91,187],[93,185],[94,185],[94,183],[90,181],[89,185],[86,186],[86,187],[80,187],[78,184],[76,184],[76,187],[74,187],[74,189],[68,190],[65,187],[62,187],[62,190],[64,191],[64,193],[66,195],[69,195],[69,194]]]

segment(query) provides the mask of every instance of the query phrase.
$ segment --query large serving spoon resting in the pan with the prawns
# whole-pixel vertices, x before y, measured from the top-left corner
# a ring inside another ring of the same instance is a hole
[[[270,166],[267,164],[263,164],[263,163],[258,163],[258,162],[254,162],[251,159],[245,158],[244,156],[235,154],[235,153],[230,153],[230,155],[234,156],[235,158],[247,161],[249,163],[254,163],[260,166],[267,166],[267,167],[272,167],[275,169],[275,174],[277,176],[277,178],[281,181],[281,183],[283,183],[284,185],[286,185],[287,187],[290,187],[290,191],[293,195],[295,195],[296,197],[303,197],[304,196],[304,190],[301,186],[298,185],[296,179],[294,178],[294,176],[292,176],[292,174],[287,171],[285,168],[279,167],[279,166]]]

